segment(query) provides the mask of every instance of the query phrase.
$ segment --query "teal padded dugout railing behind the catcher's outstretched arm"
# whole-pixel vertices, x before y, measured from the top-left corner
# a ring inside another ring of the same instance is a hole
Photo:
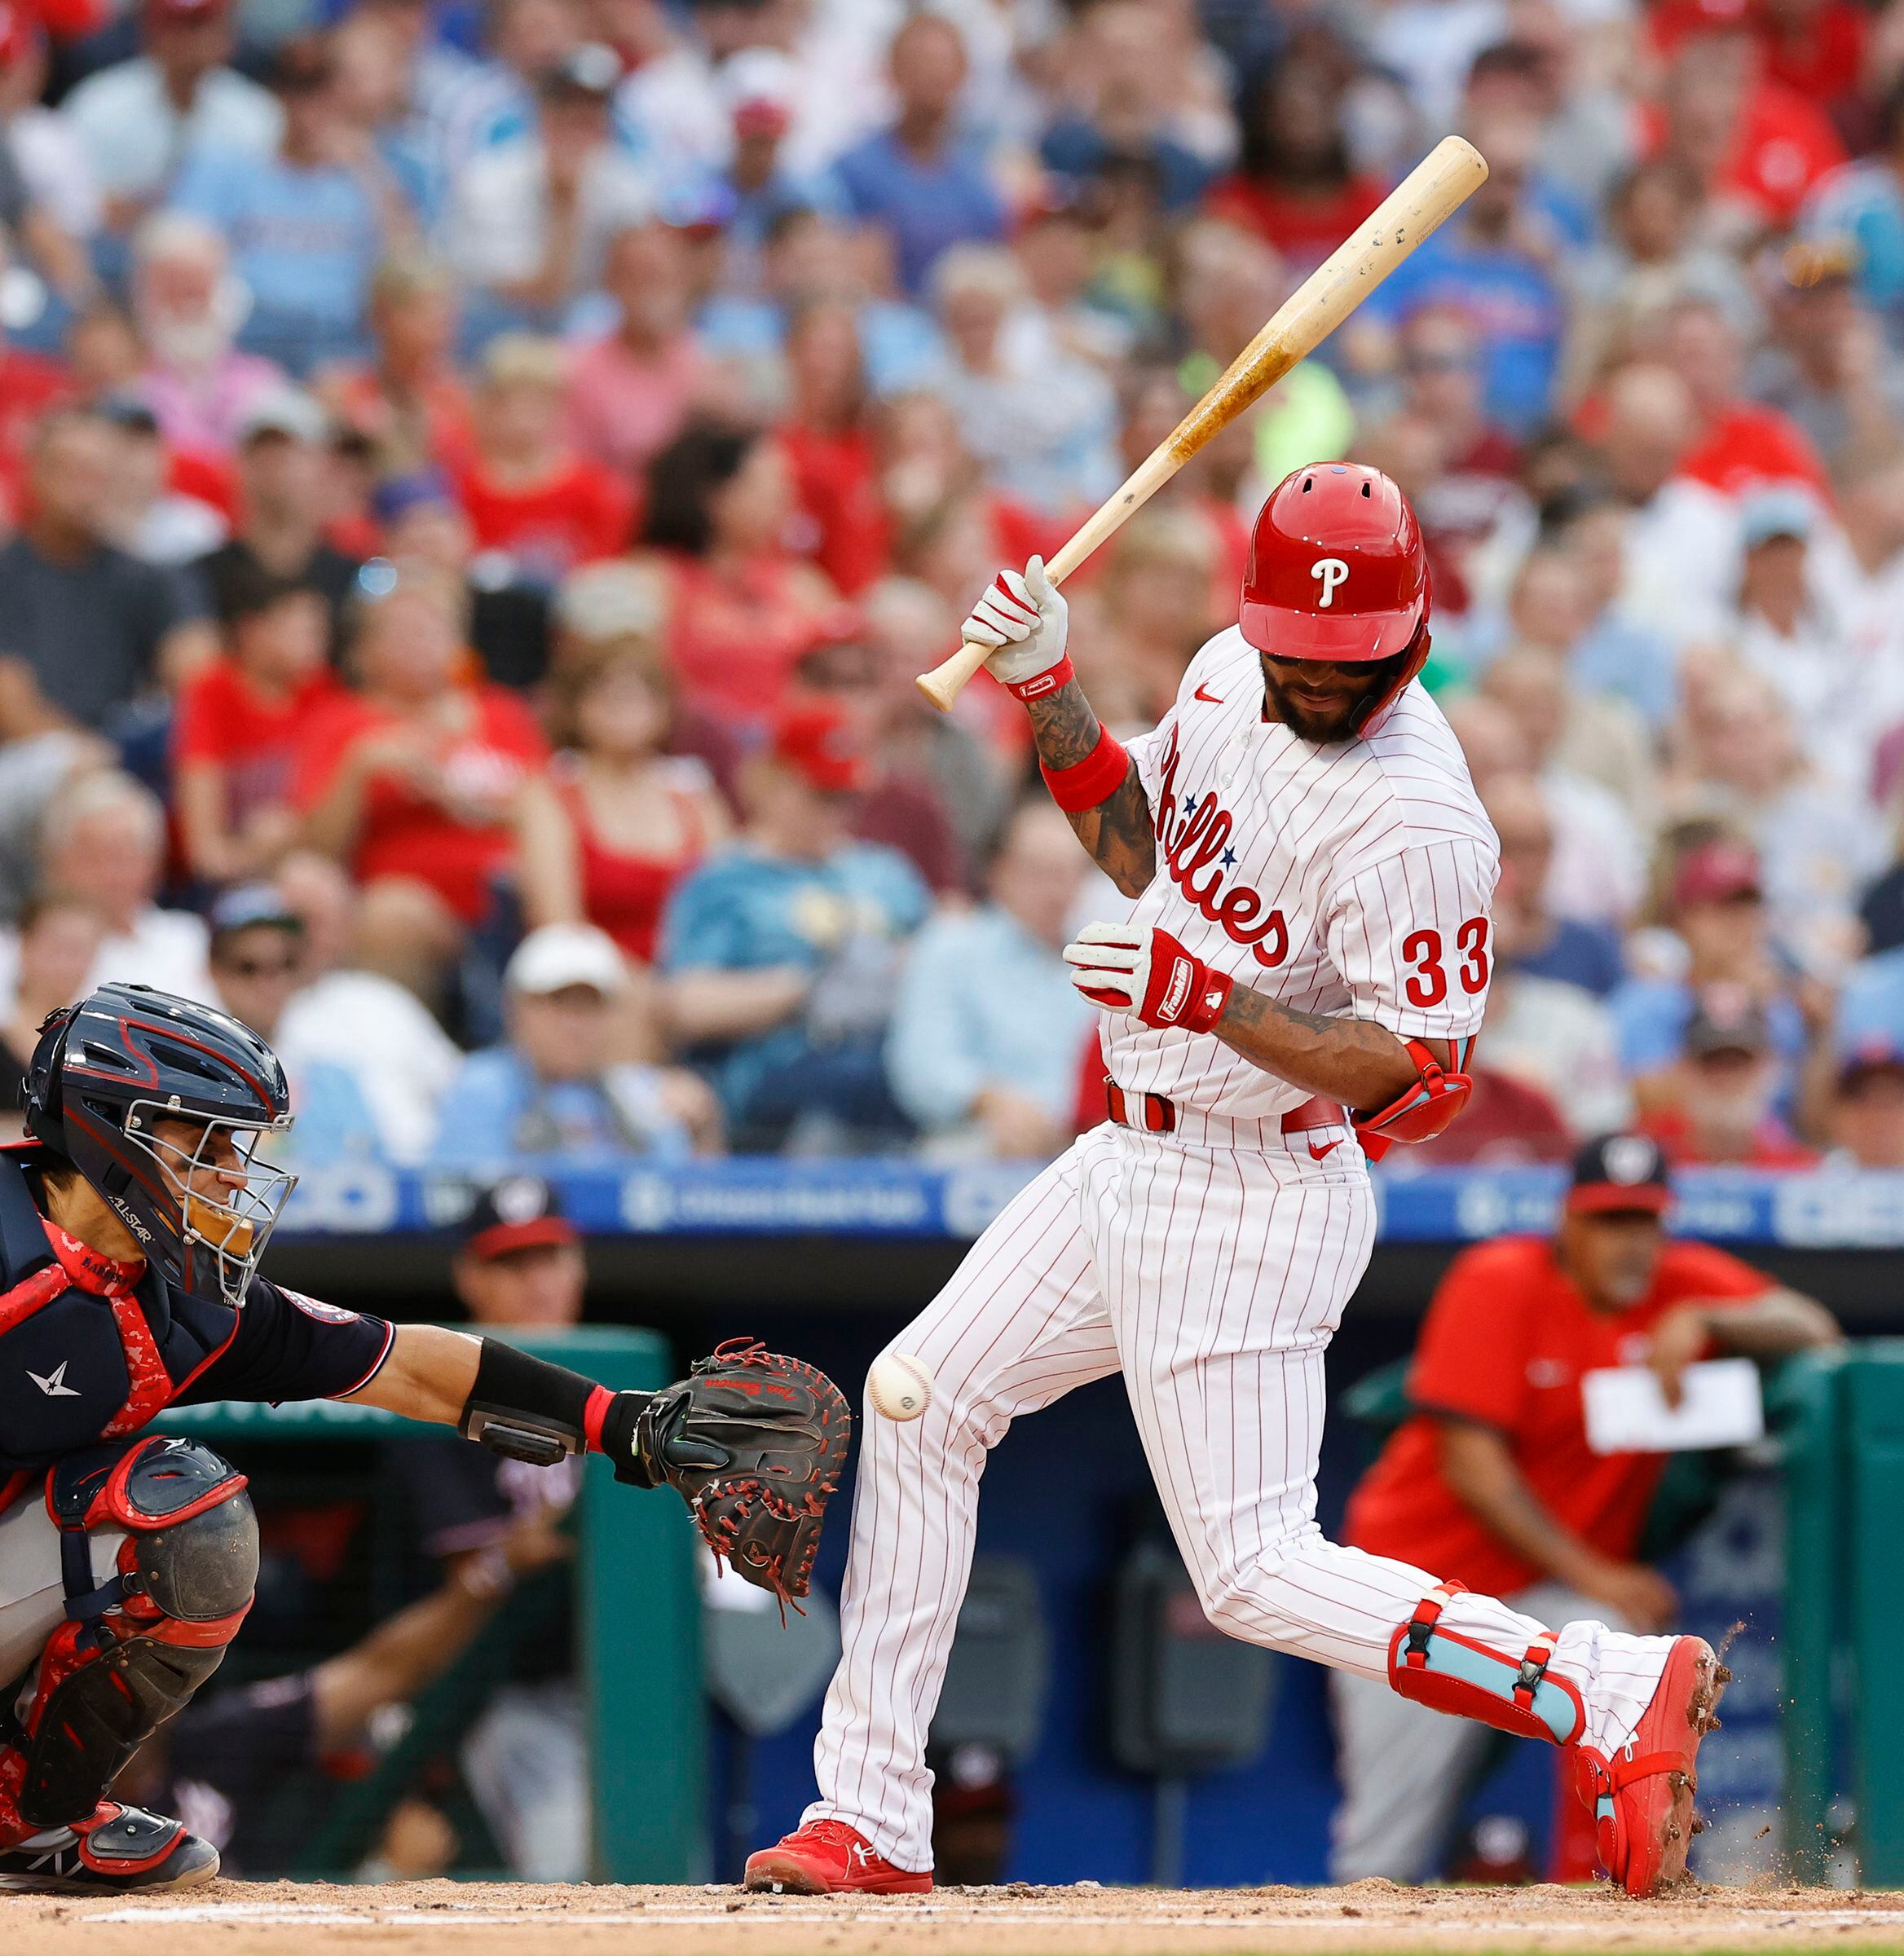
[[[587,1328],[507,1336],[616,1391],[652,1391],[673,1377],[667,1342],[656,1332]],[[176,1406],[155,1424],[241,1449],[442,1434],[342,1400],[282,1406],[219,1400]],[[605,1882],[706,1880],[706,1713],[693,1530],[679,1500],[618,1487],[601,1457],[587,1461],[573,1526],[575,1668],[589,1753],[591,1874]],[[444,1692],[476,1690],[483,1674],[481,1663],[452,1670],[438,1688],[438,1712]],[[421,1741],[431,1719],[419,1725]],[[344,1798],[331,1841],[344,1843],[352,1821],[376,1817],[372,1807],[403,1764],[403,1756],[389,1760],[393,1770],[380,1774],[378,1784]]]

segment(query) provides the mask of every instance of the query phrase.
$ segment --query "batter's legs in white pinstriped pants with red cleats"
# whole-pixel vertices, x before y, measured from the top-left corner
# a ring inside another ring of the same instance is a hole
[[[1677,1872],[1699,1721],[1722,1682],[1704,1645],[1599,1623],[1552,1635],[1315,1524],[1323,1350],[1374,1240],[1368,1178],[1340,1160],[1350,1148],[1315,1164],[1307,1148],[1098,1129],[992,1222],[896,1340],[931,1367],[931,1404],[904,1426],[863,1424],[820,1800],[796,1835],[753,1856],[749,1886],[929,1886],[926,1731],[986,1451],[1018,1414],[1113,1369],[1213,1623],[1579,1745],[1609,1866],[1636,1889]],[[1632,1760],[1609,1766],[1628,1741]]]

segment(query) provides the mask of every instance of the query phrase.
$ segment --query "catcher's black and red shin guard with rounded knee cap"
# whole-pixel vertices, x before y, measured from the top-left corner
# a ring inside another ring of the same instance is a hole
[[[196,1440],[88,1447],[47,1475],[67,1622],[14,1702],[0,1755],[0,1829],[88,1821],[151,1733],[217,1670],[258,1580],[245,1477]],[[90,1534],[123,1530],[117,1571],[92,1577]],[[6,1813],[12,1805],[12,1813]]]

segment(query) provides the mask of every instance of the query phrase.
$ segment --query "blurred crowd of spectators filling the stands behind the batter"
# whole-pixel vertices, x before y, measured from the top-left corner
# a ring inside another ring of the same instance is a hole
[[[1115,896],[912,675],[1460,129],[1078,673],[1387,469],[1503,839],[1401,1172],[1904,1168],[1904,0],[108,6],[0,0],[0,1093],[110,974],[305,1162],[1055,1152]]]

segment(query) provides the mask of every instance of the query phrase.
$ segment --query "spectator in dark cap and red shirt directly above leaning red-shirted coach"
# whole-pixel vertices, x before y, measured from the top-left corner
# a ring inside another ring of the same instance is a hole
[[[1744,986],[1710,984],[1640,1125],[1675,1168],[1814,1168],[1818,1156],[1773,1113],[1779,1082],[1765,1007]]]

